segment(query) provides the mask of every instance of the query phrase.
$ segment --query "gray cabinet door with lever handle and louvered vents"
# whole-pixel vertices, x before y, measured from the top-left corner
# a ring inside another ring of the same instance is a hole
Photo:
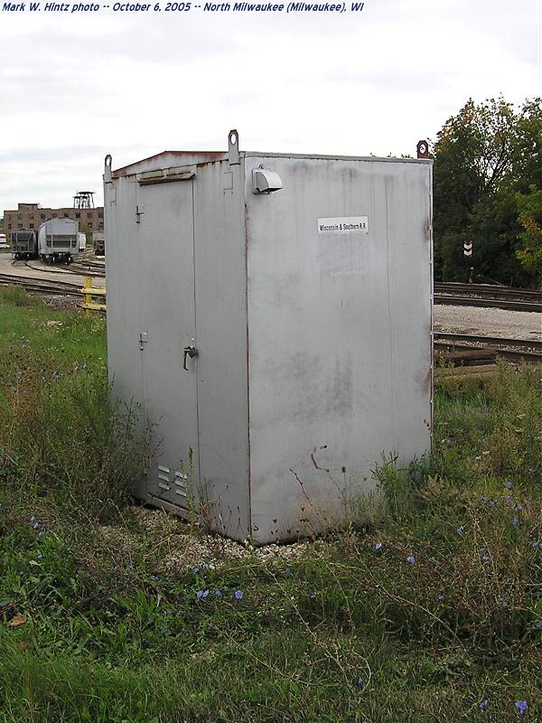
[[[147,493],[187,509],[198,486],[193,183],[137,187]],[[193,485],[193,486],[192,486]]]

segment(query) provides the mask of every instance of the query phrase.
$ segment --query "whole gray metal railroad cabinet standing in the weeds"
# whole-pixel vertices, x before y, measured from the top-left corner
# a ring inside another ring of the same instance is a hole
[[[428,161],[106,160],[107,343],[150,455],[136,493],[238,540],[341,524],[431,448]]]

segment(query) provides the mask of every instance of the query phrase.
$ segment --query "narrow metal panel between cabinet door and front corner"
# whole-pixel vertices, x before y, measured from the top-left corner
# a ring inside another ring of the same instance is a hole
[[[247,266],[242,165],[194,180],[200,484],[214,529],[249,534]]]

